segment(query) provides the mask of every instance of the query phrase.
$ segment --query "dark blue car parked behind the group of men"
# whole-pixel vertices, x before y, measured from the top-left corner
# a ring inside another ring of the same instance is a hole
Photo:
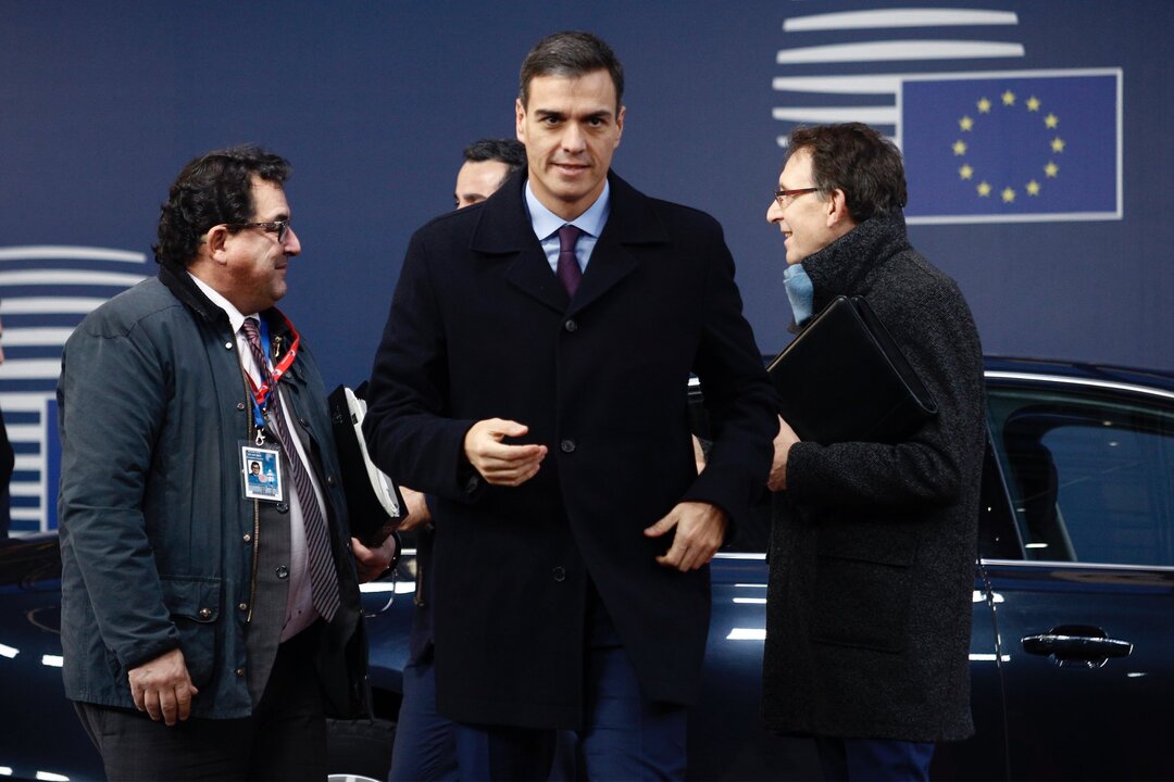
[[[1174,374],[987,360],[990,431],[971,639],[977,735],[935,778],[1170,778]],[[758,716],[767,514],[713,564],[689,776],[811,778],[809,742]],[[412,570],[364,587],[377,716],[332,723],[332,769],[385,778]],[[62,695],[55,537],[0,546],[0,776],[95,778]],[[43,773],[59,776],[43,776]]]

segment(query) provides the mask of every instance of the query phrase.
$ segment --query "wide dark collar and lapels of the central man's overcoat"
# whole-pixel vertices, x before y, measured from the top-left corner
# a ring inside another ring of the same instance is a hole
[[[635,247],[666,244],[669,233],[652,200],[614,171],[610,213],[592,252],[574,300],[569,300],[534,236],[525,206],[526,169],[514,174],[481,209],[470,249],[486,256],[512,256],[506,279],[524,293],[558,312],[575,312],[600,298],[639,265]]]

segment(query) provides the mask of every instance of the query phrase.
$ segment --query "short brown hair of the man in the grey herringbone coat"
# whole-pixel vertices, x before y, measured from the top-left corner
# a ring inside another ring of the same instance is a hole
[[[821,195],[844,191],[856,223],[899,212],[909,200],[900,150],[861,122],[795,128],[788,155],[811,155],[811,174]]]

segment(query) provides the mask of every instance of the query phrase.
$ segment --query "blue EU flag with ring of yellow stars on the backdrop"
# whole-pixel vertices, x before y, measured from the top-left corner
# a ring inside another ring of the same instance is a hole
[[[911,223],[1121,218],[1121,72],[910,76]]]

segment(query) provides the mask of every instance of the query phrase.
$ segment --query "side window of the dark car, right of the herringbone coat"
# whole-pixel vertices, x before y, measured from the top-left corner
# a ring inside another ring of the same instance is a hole
[[[1092,388],[989,389],[1027,559],[1174,566],[1172,407]]]

